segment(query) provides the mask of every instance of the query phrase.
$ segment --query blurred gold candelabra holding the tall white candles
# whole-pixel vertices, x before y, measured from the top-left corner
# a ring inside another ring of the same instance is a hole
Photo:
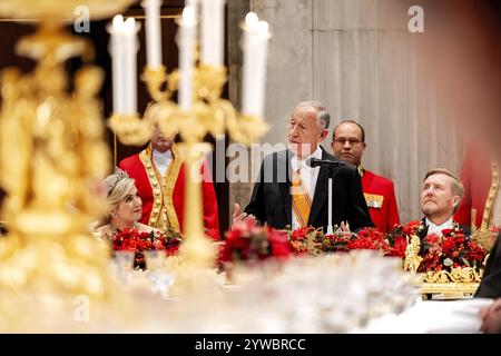
[[[244,145],[257,141],[267,130],[267,123],[258,117],[238,115],[233,105],[223,99],[226,68],[199,66],[193,77],[193,107],[183,111],[171,100],[177,90],[179,72],[167,73],[165,67],[146,68],[143,80],[153,102],[144,118],[139,116],[112,115],[109,126],[118,139],[126,145],[144,145],[151,135],[154,122],[168,137],[179,135],[181,158],[186,164],[185,240],[180,254],[186,266],[210,267],[214,248],[205,237],[203,226],[203,201],[199,177],[199,159],[212,147],[204,144],[207,135],[217,138],[229,134],[232,139]],[[161,88],[165,86],[165,89]]]

